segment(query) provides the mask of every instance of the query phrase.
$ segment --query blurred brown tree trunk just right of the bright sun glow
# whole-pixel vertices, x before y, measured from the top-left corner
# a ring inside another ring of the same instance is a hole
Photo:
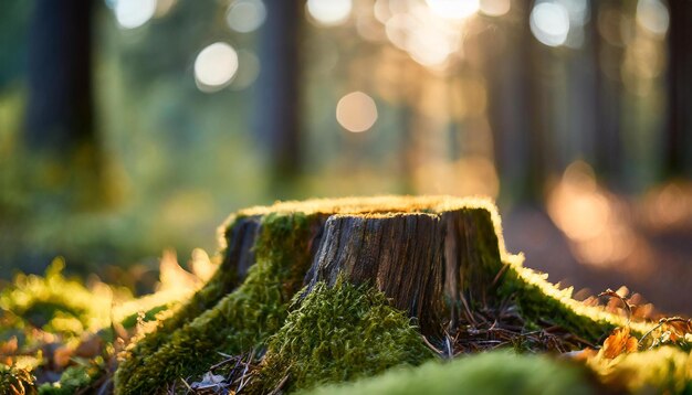
[[[503,43],[485,62],[489,121],[505,195],[523,203],[542,199],[547,177],[545,97],[541,94],[541,47],[528,26],[532,1],[514,2],[503,22]],[[497,22],[499,23],[499,22]],[[495,30],[489,30],[493,32]]]

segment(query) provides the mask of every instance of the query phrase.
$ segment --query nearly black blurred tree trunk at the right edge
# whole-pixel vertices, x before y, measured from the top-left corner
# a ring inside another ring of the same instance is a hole
[[[671,0],[667,171],[692,175],[692,2]]]

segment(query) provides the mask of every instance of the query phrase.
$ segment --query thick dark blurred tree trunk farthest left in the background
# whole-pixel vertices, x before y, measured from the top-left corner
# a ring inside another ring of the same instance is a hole
[[[25,145],[62,153],[92,143],[92,1],[36,0],[29,36]]]

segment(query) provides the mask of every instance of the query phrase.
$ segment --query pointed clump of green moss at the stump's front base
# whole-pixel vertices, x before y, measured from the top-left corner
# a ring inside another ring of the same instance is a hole
[[[270,339],[251,392],[269,393],[285,375],[282,389],[291,392],[432,356],[410,319],[382,292],[340,280],[334,287],[318,282]]]

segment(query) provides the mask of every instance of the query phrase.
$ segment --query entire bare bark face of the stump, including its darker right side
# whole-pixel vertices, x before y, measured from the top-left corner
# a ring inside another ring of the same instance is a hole
[[[335,215],[305,277],[307,292],[339,277],[370,284],[415,317],[426,334],[461,323],[460,309],[492,300],[502,269],[490,215],[480,210],[439,214]]]

